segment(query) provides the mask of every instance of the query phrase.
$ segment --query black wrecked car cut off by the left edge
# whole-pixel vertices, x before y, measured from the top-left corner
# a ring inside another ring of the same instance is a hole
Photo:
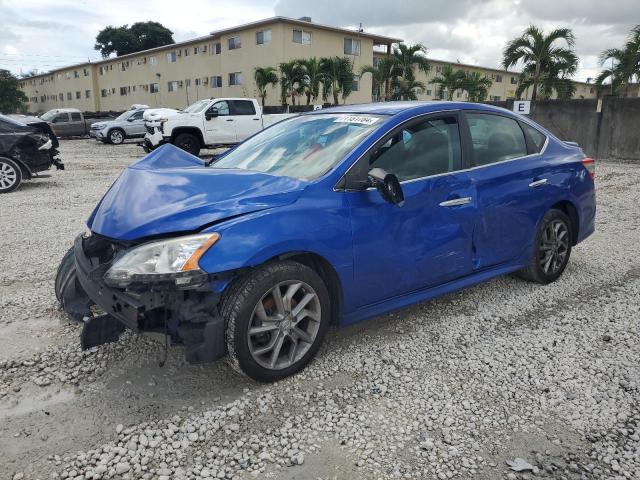
[[[26,124],[0,115],[0,193],[9,193],[23,180],[33,178],[51,165],[64,169],[58,154],[58,139],[46,122],[26,118]]]

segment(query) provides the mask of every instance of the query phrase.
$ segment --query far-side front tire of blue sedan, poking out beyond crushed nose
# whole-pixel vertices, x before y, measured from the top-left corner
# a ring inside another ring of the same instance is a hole
[[[78,282],[73,248],[70,248],[60,261],[54,290],[60,306],[72,320],[81,322],[82,318],[90,313],[92,302]]]

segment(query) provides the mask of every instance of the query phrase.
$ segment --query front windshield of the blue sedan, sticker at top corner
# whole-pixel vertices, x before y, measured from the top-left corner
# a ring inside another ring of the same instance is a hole
[[[292,118],[260,132],[214,163],[271,175],[312,179],[329,171],[367,137],[382,117],[317,114]]]

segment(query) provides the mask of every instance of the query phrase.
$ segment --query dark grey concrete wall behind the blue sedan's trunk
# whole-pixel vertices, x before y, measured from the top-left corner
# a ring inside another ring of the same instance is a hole
[[[513,108],[512,101],[490,103]],[[640,162],[640,98],[536,101],[529,117],[590,157]]]

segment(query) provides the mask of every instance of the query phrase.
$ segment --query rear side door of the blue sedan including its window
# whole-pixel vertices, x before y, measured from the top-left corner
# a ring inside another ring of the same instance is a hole
[[[482,270],[528,255],[546,208],[550,166],[538,153],[540,139],[534,145],[515,118],[473,111],[465,118],[478,202],[474,268]]]

